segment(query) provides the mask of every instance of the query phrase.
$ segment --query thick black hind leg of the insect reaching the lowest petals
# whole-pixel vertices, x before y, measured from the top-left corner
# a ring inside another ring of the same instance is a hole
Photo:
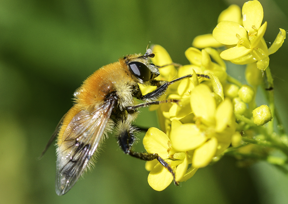
[[[131,123],[125,119],[122,119],[118,122],[116,135],[120,148],[124,151],[125,154],[129,154],[132,157],[136,157],[144,161],[151,161],[157,159],[160,162],[160,164],[162,164],[172,174],[174,184],[178,186],[179,182],[175,180],[175,173],[173,169],[157,153],[152,154],[132,150],[132,145],[135,143],[137,139],[136,136],[134,135],[135,129],[136,128],[132,127]]]

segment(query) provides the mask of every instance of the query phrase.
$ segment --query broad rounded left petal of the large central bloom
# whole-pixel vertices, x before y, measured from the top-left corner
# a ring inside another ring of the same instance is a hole
[[[206,136],[194,123],[186,123],[171,131],[172,147],[177,151],[189,151],[202,145]]]

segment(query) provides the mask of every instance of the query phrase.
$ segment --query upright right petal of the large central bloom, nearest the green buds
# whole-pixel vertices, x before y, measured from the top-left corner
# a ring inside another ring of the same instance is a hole
[[[222,103],[219,104],[216,110],[216,132],[222,132],[227,128],[228,123],[231,121],[233,114],[233,105],[229,98],[226,98]]]

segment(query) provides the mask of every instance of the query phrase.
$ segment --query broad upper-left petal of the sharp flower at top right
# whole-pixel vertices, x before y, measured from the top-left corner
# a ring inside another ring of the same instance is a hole
[[[236,34],[240,35],[243,40],[248,41],[245,28],[233,21],[221,21],[213,30],[215,40],[225,45],[237,44],[239,39],[236,38]]]

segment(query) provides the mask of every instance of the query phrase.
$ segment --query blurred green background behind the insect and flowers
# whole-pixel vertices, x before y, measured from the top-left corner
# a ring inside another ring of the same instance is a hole
[[[99,67],[160,44],[176,63],[194,37],[211,33],[220,12],[245,1],[0,1],[0,203],[287,203],[287,175],[259,162],[236,167],[233,158],[200,169],[192,179],[156,192],[145,162],[126,156],[111,136],[93,171],[64,196],[54,190],[52,145],[41,160],[72,94]],[[288,29],[286,0],[260,0],[265,34],[273,42]],[[287,128],[288,43],[270,56],[276,106]],[[231,67],[231,66],[230,66]],[[230,68],[244,81],[244,68]],[[147,119],[148,118],[148,119]],[[143,109],[136,124],[158,126]],[[140,135],[137,145],[143,150]]]

